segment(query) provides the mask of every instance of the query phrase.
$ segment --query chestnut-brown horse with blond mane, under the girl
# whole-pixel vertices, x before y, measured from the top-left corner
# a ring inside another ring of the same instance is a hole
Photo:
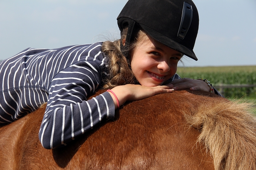
[[[160,94],[46,150],[38,139],[42,107],[0,128],[0,169],[256,169],[256,119],[247,108],[203,92]]]

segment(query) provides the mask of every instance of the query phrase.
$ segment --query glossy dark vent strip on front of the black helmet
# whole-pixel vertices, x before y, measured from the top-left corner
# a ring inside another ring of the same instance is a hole
[[[193,17],[192,6],[187,2],[183,4],[180,28],[177,37],[183,40],[188,32]]]

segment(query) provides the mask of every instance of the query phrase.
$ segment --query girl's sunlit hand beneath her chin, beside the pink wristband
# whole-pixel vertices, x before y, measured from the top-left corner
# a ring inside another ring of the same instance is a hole
[[[172,85],[146,87],[142,85],[127,84],[127,85],[116,86],[111,90],[116,94],[116,97],[118,98],[118,101],[119,101],[119,105],[121,106],[126,101],[136,101],[136,100],[144,99],[160,93],[170,93],[174,91],[172,87],[173,87]],[[110,95],[112,96],[113,101],[115,103],[115,109],[117,109],[116,98],[112,93],[110,93]]]

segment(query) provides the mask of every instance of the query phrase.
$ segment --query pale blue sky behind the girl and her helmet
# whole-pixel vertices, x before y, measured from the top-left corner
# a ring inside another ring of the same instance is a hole
[[[0,0],[0,60],[28,48],[119,38],[127,0]],[[190,66],[256,65],[256,1],[194,0],[200,24]]]

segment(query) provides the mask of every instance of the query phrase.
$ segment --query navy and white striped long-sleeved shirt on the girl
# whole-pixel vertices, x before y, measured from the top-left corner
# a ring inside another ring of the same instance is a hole
[[[113,119],[109,93],[87,100],[108,75],[101,44],[28,48],[2,61],[0,123],[11,123],[47,102],[39,140],[50,149],[66,145],[103,119]]]

